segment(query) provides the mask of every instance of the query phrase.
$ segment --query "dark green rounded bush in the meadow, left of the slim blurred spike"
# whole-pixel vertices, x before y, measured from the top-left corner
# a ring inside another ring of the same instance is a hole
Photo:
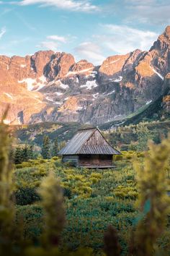
[[[36,189],[31,187],[22,187],[15,192],[17,205],[31,205],[33,202],[40,200]]]

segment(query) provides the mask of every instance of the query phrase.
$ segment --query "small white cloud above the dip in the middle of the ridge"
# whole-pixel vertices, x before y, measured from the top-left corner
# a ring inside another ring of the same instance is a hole
[[[102,56],[102,50],[97,43],[84,42],[77,46],[74,51],[81,59],[88,59],[94,64],[101,64],[105,57]]]

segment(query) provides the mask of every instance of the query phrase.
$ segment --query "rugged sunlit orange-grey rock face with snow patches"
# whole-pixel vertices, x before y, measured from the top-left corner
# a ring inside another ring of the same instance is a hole
[[[170,26],[149,51],[109,56],[99,67],[53,51],[0,56],[0,116],[9,105],[9,124],[102,124],[155,101],[169,87],[169,72]]]

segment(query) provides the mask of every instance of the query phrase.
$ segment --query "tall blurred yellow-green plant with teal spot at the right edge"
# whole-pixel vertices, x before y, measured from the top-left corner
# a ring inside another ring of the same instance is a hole
[[[131,242],[131,254],[160,255],[158,238],[166,229],[169,213],[166,168],[170,155],[170,139],[159,145],[149,144],[144,166],[135,163],[138,171],[140,216]],[[166,252],[165,252],[166,253]]]

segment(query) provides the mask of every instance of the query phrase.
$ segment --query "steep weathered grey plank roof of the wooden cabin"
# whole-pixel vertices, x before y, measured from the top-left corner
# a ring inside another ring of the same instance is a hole
[[[60,150],[58,155],[120,155],[121,153],[112,148],[108,142],[107,145],[84,145],[97,130],[99,131],[97,128],[79,129],[67,145]],[[104,137],[103,139],[106,141]]]

